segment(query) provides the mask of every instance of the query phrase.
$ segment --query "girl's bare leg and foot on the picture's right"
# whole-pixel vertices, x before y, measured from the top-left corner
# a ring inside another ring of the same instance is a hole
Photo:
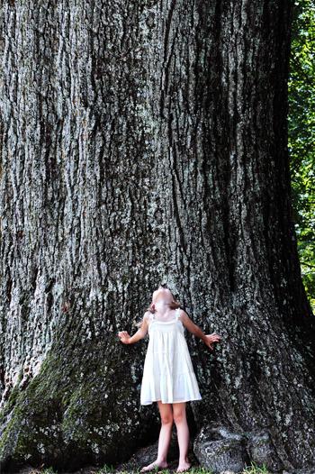
[[[191,467],[188,460],[188,446],[189,446],[189,428],[186,418],[186,402],[173,404],[173,416],[177,429],[177,439],[179,446],[179,462],[176,472],[182,472]]]

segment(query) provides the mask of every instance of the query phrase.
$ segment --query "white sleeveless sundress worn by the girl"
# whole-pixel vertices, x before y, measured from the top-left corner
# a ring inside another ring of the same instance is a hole
[[[157,400],[179,403],[202,399],[179,312],[180,308],[176,308],[175,318],[170,321],[159,321],[154,314],[149,316],[140,405]]]

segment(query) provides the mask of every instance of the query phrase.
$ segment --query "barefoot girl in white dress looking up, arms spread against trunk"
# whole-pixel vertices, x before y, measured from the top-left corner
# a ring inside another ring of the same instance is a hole
[[[144,361],[140,392],[140,405],[157,402],[161,430],[158,438],[157,459],[140,472],[167,468],[167,451],[171,440],[173,422],[176,425],[179,445],[179,464],[176,472],[191,467],[187,458],[189,430],[186,420],[186,402],[201,400],[193,364],[184,338],[184,327],[211,349],[212,342],[220,342],[216,333],[204,334],[180,309],[171,291],[158,287],[152,303],[143,316],[139,330],[132,337],[120,331],[118,337],[124,344],[132,344],[149,335],[148,351]]]

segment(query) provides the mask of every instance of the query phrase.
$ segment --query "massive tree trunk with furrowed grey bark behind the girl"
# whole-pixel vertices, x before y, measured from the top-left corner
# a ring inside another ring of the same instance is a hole
[[[136,330],[162,283],[222,337],[212,353],[186,334],[197,427],[267,429],[284,466],[314,462],[315,330],[286,146],[291,9],[3,2],[3,469],[118,462],[157,437],[157,407],[139,406],[148,339],[117,333]]]

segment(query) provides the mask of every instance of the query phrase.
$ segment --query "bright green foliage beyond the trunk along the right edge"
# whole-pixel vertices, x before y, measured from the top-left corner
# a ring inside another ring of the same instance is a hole
[[[288,84],[288,146],[302,279],[315,310],[315,1],[296,0]]]

